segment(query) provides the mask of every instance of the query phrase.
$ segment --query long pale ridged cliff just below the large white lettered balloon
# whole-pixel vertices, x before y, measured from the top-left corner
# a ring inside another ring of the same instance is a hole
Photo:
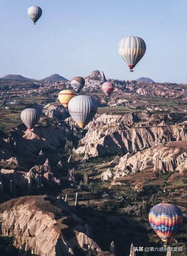
[[[97,120],[96,120],[97,121]],[[116,123],[91,126],[81,140],[77,154],[102,157],[118,152],[136,152],[168,141],[187,139],[187,125],[167,125],[129,128]]]

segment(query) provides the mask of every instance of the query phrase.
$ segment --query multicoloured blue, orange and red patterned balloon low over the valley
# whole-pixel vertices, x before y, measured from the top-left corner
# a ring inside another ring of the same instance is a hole
[[[167,243],[182,225],[182,212],[176,205],[159,203],[151,208],[149,222],[158,236]]]

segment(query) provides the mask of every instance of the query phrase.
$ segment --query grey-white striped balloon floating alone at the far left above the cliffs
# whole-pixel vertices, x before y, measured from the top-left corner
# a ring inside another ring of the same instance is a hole
[[[31,130],[39,121],[40,114],[36,109],[24,109],[21,112],[21,120],[29,130]]]

